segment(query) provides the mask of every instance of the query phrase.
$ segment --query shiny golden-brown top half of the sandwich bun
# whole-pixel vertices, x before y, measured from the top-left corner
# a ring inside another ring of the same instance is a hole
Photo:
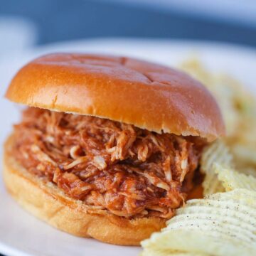
[[[134,58],[44,55],[18,71],[6,97],[30,107],[104,117],[208,142],[225,133],[220,109],[200,82]]]

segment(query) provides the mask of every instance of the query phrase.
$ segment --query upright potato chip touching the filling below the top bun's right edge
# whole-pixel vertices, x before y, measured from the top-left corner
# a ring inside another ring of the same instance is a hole
[[[201,171],[205,174],[203,180],[203,195],[208,196],[213,193],[225,191],[222,183],[218,180],[218,176],[214,171],[214,164],[221,164],[223,166],[232,166],[233,157],[229,153],[224,142],[218,140],[210,144],[202,154]]]

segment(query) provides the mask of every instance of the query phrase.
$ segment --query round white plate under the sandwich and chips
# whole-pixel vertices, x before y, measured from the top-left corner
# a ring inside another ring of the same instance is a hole
[[[43,48],[36,48],[20,55],[0,59],[0,94],[16,70],[31,58],[53,51],[97,52],[131,55],[176,65],[191,55],[198,57],[210,70],[225,71],[238,78],[256,92],[256,51],[228,44],[195,41],[145,41],[128,39],[101,39],[74,41]],[[20,107],[0,101],[0,143],[11,131],[11,124],[18,120]],[[2,149],[0,149],[2,153]],[[0,252],[6,255],[138,255],[139,247],[106,245],[92,239],[75,238],[37,220],[23,211],[6,193],[0,180]]]

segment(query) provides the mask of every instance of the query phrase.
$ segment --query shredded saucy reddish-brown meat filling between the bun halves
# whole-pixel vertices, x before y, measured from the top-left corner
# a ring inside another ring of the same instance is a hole
[[[29,107],[14,157],[71,198],[124,218],[171,218],[193,188],[205,144],[110,119]]]

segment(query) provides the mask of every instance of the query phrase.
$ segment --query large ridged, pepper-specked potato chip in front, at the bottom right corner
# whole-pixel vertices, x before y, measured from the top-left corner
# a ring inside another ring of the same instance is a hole
[[[151,255],[159,250],[163,256],[177,251],[256,255],[256,191],[235,189],[188,201],[161,233],[151,235],[142,246],[155,253]]]

